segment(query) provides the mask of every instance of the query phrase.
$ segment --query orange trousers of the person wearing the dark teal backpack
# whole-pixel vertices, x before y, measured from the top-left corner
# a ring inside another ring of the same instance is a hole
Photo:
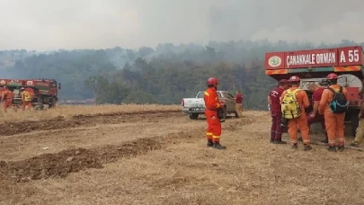
[[[336,139],[339,146],[344,146],[344,120],[345,113],[333,113],[329,110],[324,111],[324,125],[326,126],[327,137],[329,138],[329,145],[336,146]]]

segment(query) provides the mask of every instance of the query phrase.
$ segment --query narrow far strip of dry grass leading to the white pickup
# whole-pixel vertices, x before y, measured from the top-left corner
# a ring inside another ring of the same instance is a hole
[[[0,111],[0,122],[20,120],[49,120],[62,116],[69,118],[75,115],[101,114],[111,112],[134,112],[134,111],[181,111],[180,105],[160,104],[122,104],[122,105],[59,105],[55,109],[44,109],[43,111],[13,111],[7,113]]]

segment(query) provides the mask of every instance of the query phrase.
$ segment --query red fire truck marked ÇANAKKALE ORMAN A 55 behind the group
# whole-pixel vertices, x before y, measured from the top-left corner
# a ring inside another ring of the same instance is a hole
[[[351,133],[355,136],[360,104],[363,101],[364,58],[361,46],[265,54],[266,75],[276,80],[299,76],[302,79],[300,88],[305,90],[309,97],[312,94],[306,86],[311,82],[319,84],[330,73],[337,74],[338,84],[348,90],[350,108],[346,112],[345,123],[351,127]]]

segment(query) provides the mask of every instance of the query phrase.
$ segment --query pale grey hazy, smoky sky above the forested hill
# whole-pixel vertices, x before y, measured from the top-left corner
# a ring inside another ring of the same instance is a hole
[[[364,41],[363,17],[362,0],[0,0],[0,49]]]

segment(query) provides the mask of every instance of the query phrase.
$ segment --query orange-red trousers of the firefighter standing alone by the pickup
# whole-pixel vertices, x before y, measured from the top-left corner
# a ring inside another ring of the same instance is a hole
[[[218,120],[218,112],[206,109],[205,115],[208,122],[206,137],[214,142],[219,142],[221,136],[221,122]]]

